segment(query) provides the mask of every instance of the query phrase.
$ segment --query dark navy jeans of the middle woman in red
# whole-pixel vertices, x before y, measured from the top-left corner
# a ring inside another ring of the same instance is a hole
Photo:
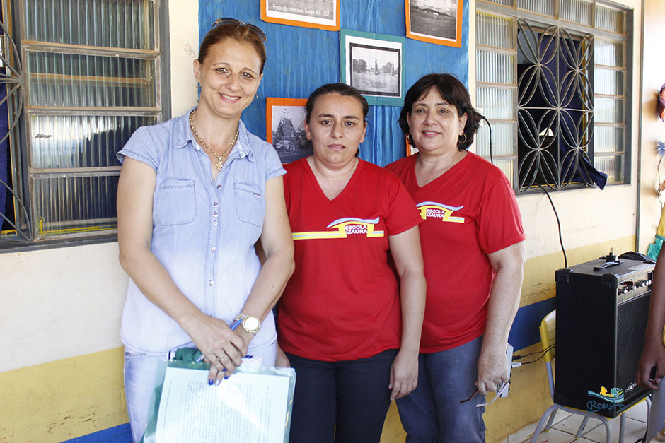
[[[289,443],[378,443],[391,404],[396,349],[322,362],[287,354],[296,370]]]

